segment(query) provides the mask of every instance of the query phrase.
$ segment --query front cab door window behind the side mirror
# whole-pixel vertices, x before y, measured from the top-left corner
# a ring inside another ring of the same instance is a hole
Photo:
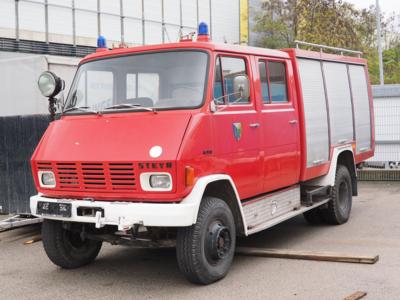
[[[240,98],[240,95],[234,94],[233,79],[237,75],[246,75],[246,61],[237,57],[218,57],[215,63],[214,80],[214,99],[218,103],[247,104],[250,103],[249,97]]]

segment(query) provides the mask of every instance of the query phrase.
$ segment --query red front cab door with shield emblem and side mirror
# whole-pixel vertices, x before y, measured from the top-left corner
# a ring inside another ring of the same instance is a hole
[[[233,92],[237,75],[249,78],[250,96],[246,99]],[[232,177],[241,199],[262,192],[261,128],[252,81],[249,56],[216,55],[213,98],[218,105],[212,115],[215,167]]]

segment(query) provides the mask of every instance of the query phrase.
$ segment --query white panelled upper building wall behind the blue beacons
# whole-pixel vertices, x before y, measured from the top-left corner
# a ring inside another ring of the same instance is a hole
[[[155,44],[177,41],[180,34],[196,31],[198,23],[204,21],[209,24],[215,42],[239,42],[239,0],[48,0],[48,5],[45,3],[1,0],[0,37],[95,46],[100,33],[109,46],[121,41],[128,45]]]

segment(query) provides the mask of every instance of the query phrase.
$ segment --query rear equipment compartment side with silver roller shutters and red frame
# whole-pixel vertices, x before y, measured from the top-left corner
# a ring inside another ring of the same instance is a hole
[[[285,49],[294,63],[302,115],[302,175],[327,174],[333,149],[350,144],[355,162],[374,153],[372,94],[366,60],[301,49]],[[326,114],[326,115],[325,115]]]

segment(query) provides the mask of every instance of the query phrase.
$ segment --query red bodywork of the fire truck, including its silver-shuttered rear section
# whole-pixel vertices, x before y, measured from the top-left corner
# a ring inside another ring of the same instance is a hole
[[[354,153],[354,164],[373,155],[372,98],[366,61],[361,58],[299,49],[278,51],[181,42],[103,50],[85,57],[80,65],[175,50],[207,53],[209,65],[202,104],[156,113],[63,115],[51,124],[32,156],[41,197],[55,202],[89,199],[177,205],[190,197],[196,198],[191,209],[197,217],[210,183],[207,180],[213,178],[228,182],[243,231],[254,233],[276,223],[272,220],[275,212],[270,216],[271,205],[276,206],[276,218],[280,220],[286,218],[285,214],[295,215],[293,210],[301,205],[299,185],[324,182],[333,186],[338,157],[344,149]],[[224,69],[224,61],[232,59],[231,67],[243,65],[240,72],[250,82],[248,101],[229,103],[232,82],[225,78],[230,70]],[[121,78],[120,74],[115,76]],[[223,81],[219,82],[218,76],[224,76]],[[213,110],[214,98],[221,96],[219,89],[223,99],[227,95],[228,100]],[[155,146],[162,151],[152,157],[150,150]],[[188,170],[194,170],[190,183]],[[56,173],[55,188],[41,185],[40,171]],[[147,191],[141,175],[151,172],[170,174],[171,189]],[[272,192],[284,196],[274,198]],[[39,200],[35,199],[37,203]],[[104,205],[108,205],[106,202]],[[247,213],[243,213],[242,206],[256,202],[260,202],[256,208],[248,206]],[[319,205],[324,203],[326,199]],[[254,215],[257,207],[263,210],[261,217]],[[187,226],[187,219],[183,223],[171,222],[171,215],[166,216],[165,226]],[[88,218],[85,220],[101,223],[95,215]],[[246,219],[252,220],[250,227],[246,226]],[[104,224],[108,224],[106,220],[104,217]],[[130,221],[133,226],[135,222]],[[162,226],[162,221],[152,224]]]

